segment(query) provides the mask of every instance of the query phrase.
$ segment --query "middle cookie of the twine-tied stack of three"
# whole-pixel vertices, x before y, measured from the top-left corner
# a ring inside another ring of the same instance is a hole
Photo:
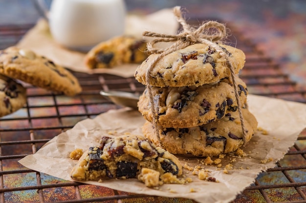
[[[241,104],[246,102],[245,83],[236,77]],[[157,122],[165,128],[190,128],[224,117],[227,111],[236,111],[237,100],[233,84],[222,79],[215,84],[199,87],[152,87]],[[148,91],[139,98],[138,110],[146,120],[153,121]]]

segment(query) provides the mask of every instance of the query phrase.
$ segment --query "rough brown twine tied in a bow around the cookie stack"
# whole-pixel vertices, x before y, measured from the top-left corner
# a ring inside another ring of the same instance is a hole
[[[177,22],[179,22],[183,28],[183,30],[177,35],[159,34],[159,33],[154,33],[154,32],[147,32],[147,31],[142,34],[144,37],[155,37],[155,39],[153,39],[151,42],[147,44],[147,51],[150,54],[158,54],[157,57],[149,64],[149,68],[146,72],[146,86],[147,86],[147,90],[149,93],[150,107],[151,107],[151,111],[153,114],[153,125],[154,125],[154,129],[156,132],[158,142],[162,146],[162,142],[159,136],[158,124],[157,124],[158,109],[156,111],[154,108],[153,93],[152,93],[152,89],[150,85],[151,71],[154,65],[157,63],[157,61],[160,60],[165,55],[168,55],[180,49],[184,49],[185,47],[190,46],[192,44],[204,43],[204,44],[209,45],[211,48],[215,49],[215,51],[223,59],[225,59],[226,65],[230,69],[231,78],[232,78],[234,91],[235,91],[235,97],[236,97],[237,105],[238,105],[240,121],[241,121],[241,128],[243,132],[242,140],[243,140],[243,145],[245,145],[247,143],[246,129],[244,126],[244,119],[243,119],[242,110],[241,110],[241,102],[240,102],[238,87],[237,87],[237,83],[235,79],[234,67],[231,61],[229,60],[228,55],[217,44],[217,42],[220,42],[222,39],[227,37],[226,27],[224,24],[219,23],[217,21],[207,21],[196,29],[186,23],[185,19],[182,17],[180,10],[181,10],[180,6],[175,6],[173,10]],[[214,32],[212,32],[211,30],[214,30]],[[160,42],[174,42],[174,43],[170,47],[167,47],[167,48],[154,47],[155,44],[160,43]]]

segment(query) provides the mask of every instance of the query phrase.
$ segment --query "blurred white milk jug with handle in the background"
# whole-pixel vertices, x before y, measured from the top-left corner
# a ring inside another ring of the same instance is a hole
[[[125,30],[124,0],[52,0],[50,11],[37,0],[54,39],[67,48],[88,51]]]

